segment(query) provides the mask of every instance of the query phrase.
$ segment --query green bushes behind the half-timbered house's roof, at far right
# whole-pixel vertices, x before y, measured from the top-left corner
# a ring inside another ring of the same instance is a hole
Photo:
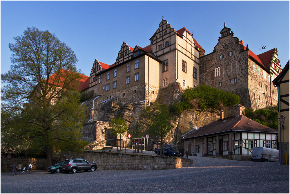
[[[254,111],[249,108],[245,111],[245,116],[265,125],[267,127],[271,127],[272,129],[278,129],[279,121],[278,121],[278,107],[277,106],[268,106],[266,108],[258,109]]]

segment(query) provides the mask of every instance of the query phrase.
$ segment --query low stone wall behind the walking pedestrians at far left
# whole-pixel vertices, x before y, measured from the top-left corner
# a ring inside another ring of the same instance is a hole
[[[9,164],[8,164],[9,163]],[[9,172],[12,173],[12,164],[15,163],[17,166],[19,163],[22,164],[22,166],[26,166],[26,169],[28,167],[28,164],[32,164],[32,170],[42,170],[43,166],[46,166],[46,159],[44,158],[11,158],[8,162],[7,155],[2,155],[1,157],[1,173]],[[18,170],[17,170],[18,173]]]

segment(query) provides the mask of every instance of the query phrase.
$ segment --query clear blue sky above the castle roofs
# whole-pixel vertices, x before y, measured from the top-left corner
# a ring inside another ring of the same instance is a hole
[[[175,30],[193,31],[205,54],[225,22],[256,55],[263,45],[278,49],[282,68],[289,60],[289,1],[1,1],[1,73],[11,65],[8,44],[27,26],[55,33],[89,76],[95,58],[115,63],[123,41],[148,46],[162,16]]]

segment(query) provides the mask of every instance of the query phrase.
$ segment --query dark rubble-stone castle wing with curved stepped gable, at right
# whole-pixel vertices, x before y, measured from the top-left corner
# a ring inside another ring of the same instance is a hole
[[[255,55],[224,25],[213,52],[200,58],[199,84],[238,94],[254,110],[278,103],[273,79],[281,72],[277,49]]]

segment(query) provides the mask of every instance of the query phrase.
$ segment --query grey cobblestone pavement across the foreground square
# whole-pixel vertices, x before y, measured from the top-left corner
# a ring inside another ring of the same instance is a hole
[[[289,166],[193,157],[171,170],[1,173],[1,193],[289,193]]]

